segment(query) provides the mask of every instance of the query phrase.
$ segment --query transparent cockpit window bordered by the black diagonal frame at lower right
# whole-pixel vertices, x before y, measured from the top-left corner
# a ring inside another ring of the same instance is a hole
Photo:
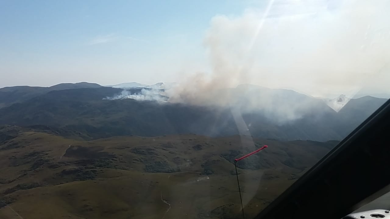
[[[389,4],[0,2],[0,218],[254,217],[390,97]]]

